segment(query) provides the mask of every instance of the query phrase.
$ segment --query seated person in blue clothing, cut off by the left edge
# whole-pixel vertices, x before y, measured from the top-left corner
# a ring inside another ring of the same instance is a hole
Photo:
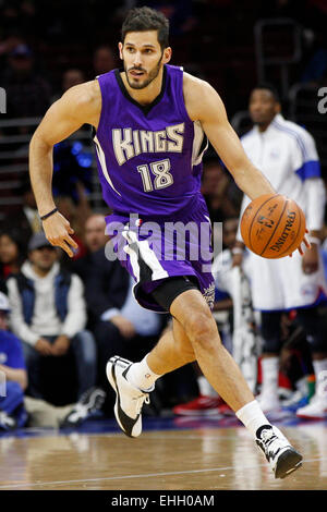
[[[14,430],[27,422],[24,407],[27,373],[21,341],[8,330],[8,298],[0,292],[0,371],[5,376],[5,381],[0,379],[5,391],[0,392],[0,430]]]

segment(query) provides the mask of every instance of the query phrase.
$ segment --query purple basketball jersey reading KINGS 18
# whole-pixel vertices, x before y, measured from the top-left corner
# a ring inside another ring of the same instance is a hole
[[[108,206],[164,218],[193,206],[207,138],[187,115],[182,69],[164,66],[161,92],[146,107],[131,98],[119,70],[98,82],[102,108],[94,142]]]

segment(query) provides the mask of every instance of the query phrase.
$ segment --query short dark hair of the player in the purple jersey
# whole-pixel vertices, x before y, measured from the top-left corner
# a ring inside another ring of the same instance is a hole
[[[129,12],[121,27],[122,41],[129,32],[146,31],[158,32],[161,50],[169,46],[169,21],[161,12],[146,7],[132,9]]]

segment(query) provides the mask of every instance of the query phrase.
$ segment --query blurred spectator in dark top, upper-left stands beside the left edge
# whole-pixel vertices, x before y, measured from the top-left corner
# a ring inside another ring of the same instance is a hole
[[[50,106],[50,85],[36,73],[34,54],[27,45],[21,44],[10,52],[1,85],[7,90],[10,118],[41,117]],[[20,132],[26,130],[21,127]]]

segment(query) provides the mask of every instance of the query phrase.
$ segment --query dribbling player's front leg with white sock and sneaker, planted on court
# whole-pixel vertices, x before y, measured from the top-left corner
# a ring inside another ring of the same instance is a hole
[[[191,341],[205,377],[253,434],[276,478],[283,478],[295,471],[302,456],[280,430],[269,424],[254,400],[238,365],[220,341],[217,325],[202,294],[191,290],[179,295],[170,312]]]

